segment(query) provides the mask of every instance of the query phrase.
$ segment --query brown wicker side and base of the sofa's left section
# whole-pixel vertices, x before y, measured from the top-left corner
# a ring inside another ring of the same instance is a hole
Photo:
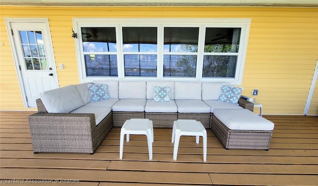
[[[33,152],[94,153],[112,128],[112,113],[97,126],[94,114],[44,113],[29,116]]]

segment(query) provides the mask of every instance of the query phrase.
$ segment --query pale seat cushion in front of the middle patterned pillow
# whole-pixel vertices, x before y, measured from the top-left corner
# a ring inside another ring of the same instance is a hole
[[[162,101],[162,102],[155,102],[153,99],[148,99],[146,106],[146,112],[177,112],[178,107],[175,104],[174,100],[170,102]]]

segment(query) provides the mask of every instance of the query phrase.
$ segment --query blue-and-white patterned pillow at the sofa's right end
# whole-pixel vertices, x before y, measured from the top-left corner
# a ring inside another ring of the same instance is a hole
[[[239,97],[243,88],[233,87],[222,84],[221,92],[218,101],[239,104]]]

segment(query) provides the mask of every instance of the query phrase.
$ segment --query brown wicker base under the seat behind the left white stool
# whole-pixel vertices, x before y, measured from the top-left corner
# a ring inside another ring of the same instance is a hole
[[[113,112],[114,127],[122,127],[127,119],[145,118],[145,112]]]

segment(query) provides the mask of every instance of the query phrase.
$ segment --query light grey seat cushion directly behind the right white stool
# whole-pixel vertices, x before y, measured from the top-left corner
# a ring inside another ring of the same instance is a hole
[[[211,108],[202,100],[177,99],[175,103],[180,113],[210,113]]]

